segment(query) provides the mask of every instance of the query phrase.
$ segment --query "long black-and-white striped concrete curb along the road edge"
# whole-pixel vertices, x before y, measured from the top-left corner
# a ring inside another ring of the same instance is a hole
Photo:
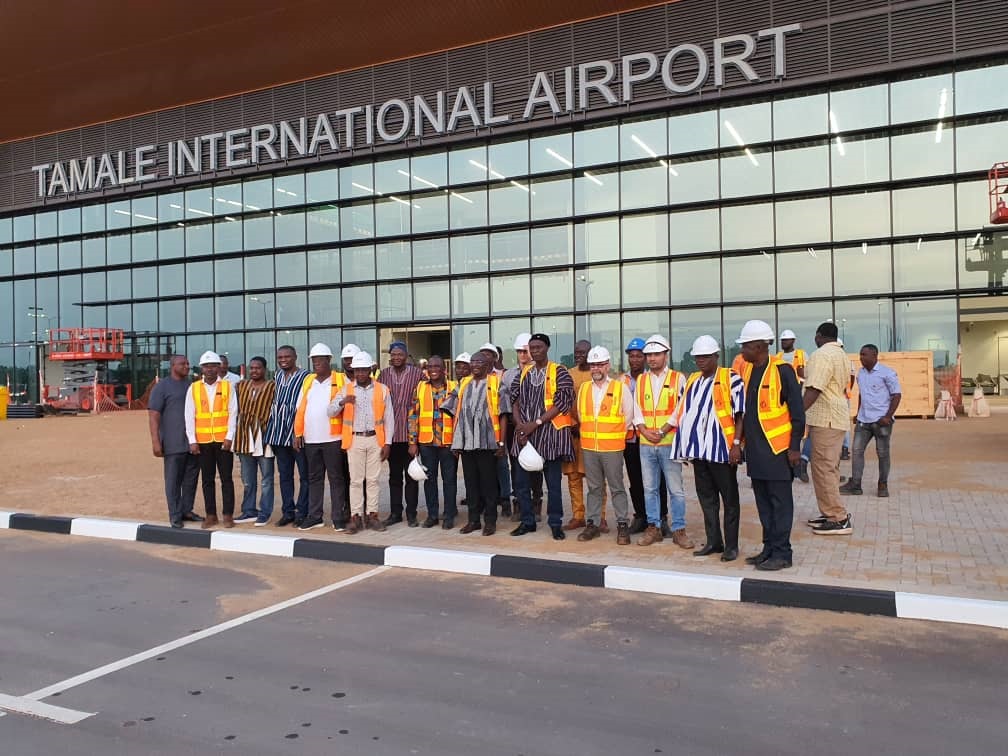
[[[0,512],[2,528],[1008,629],[1008,601],[645,570],[451,548],[377,546],[283,535],[177,529],[95,517]]]

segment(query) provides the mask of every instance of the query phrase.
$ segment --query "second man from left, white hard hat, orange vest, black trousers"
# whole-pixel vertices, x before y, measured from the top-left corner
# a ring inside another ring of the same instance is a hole
[[[207,519],[203,527],[219,525],[217,519],[217,490],[214,486],[215,470],[221,476],[222,516],[225,527],[235,526],[235,481],[232,470],[234,455],[231,444],[235,438],[238,420],[238,397],[234,388],[219,377],[221,358],[214,352],[204,352],[200,357],[201,380],[185,395],[185,437],[190,454],[200,457],[200,476],[203,478],[203,502]]]

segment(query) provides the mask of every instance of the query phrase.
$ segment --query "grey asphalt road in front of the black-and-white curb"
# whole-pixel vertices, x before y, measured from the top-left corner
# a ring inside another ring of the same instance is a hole
[[[1003,753],[1008,632],[0,531],[0,718],[39,754]],[[50,688],[50,686],[52,686]],[[30,697],[29,697],[30,698]],[[19,699],[20,700],[20,699]]]

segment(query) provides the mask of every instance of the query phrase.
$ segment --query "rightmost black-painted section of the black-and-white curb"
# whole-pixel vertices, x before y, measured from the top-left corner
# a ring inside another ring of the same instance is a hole
[[[814,586],[807,583],[743,578],[742,601],[798,609],[828,609],[834,612],[896,616],[896,594],[841,586]]]

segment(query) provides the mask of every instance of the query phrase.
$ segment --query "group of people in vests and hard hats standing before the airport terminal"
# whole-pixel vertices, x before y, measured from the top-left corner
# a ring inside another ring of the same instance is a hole
[[[343,348],[335,370],[335,355],[325,344],[311,348],[310,371],[298,366],[292,347],[280,347],[271,380],[262,357],[249,360],[248,375],[240,379],[225,358],[206,352],[200,380],[192,382],[188,360],[176,355],[149,401],[153,453],[164,460],[168,517],[172,527],[185,520],[202,520],[204,528],[266,525],[273,514],[275,464],[277,526],[323,527],[328,482],[338,531],[381,531],[403,521],[449,530],[459,518],[461,465],[466,517],[460,533],[493,535],[499,517],[516,523],[513,536],[534,532],[545,488],[546,525],[556,540],[575,530],[580,541],[609,533],[611,500],[619,545],[629,545],[631,535],[639,535],[641,546],[667,537],[697,556],[720,554],[731,561],[739,557],[737,470],[745,462],[763,528],[762,549],[746,561],[758,570],[782,570],[792,562],[791,485],[802,471],[806,426],[821,510],[808,524],[820,534],[850,533],[841,496],[863,493],[864,451],[871,438],[880,459],[879,495],[888,493],[888,440],[899,386],[895,373],[878,364],[877,348],[866,345],[854,469],[841,487],[850,366],[837,329],[823,324],[815,335],[818,350],[807,356],[794,349],[791,332],[781,334],[778,353],[770,350],[774,341],[769,325],[747,323],[737,340],[741,354],[728,368],[719,365],[718,341],[701,336],[690,350],[697,371],[685,375],[669,364],[666,338],[634,339],[625,349],[629,370],[616,377],[606,347],[578,342],[575,365],[568,369],[550,360],[545,334],[520,334],[516,364],[509,369],[503,350],[493,344],[460,354],[454,377],[440,356],[429,357],[422,368],[411,364],[401,342],[389,346],[389,365],[377,375],[372,356],[352,344]],[[244,486],[237,517],[234,454]],[[386,462],[390,503],[381,518],[379,475]],[[686,464],[704,514],[700,547],[686,533]],[[572,503],[565,523],[563,476]],[[206,518],[194,512],[200,477]],[[220,519],[216,478],[223,496]]]

